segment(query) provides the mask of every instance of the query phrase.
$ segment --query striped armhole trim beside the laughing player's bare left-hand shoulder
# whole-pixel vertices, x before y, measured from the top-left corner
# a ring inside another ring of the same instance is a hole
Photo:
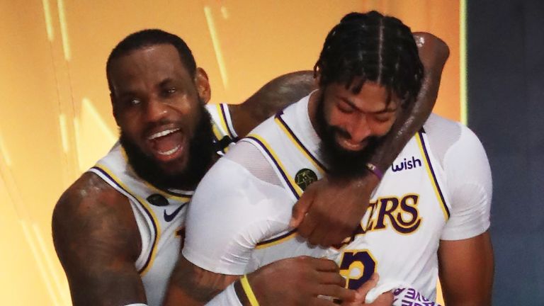
[[[127,186],[121,183],[119,179],[116,179],[112,171],[110,171],[106,166],[96,165],[89,169],[89,172],[96,174],[110,186],[115,188],[116,191],[128,198],[142,242],[140,256],[138,256],[137,260],[135,261],[135,268],[140,275],[145,275],[147,268],[151,266],[152,259],[154,258],[155,246],[157,245],[157,237],[160,231],[158,222],[155,221],[152,211],[149,210],[149,208],[146,208],[142,203],[142,199],[138,199],[135,194],[130,192]],[[145,226],[145,223],[151,226]],[[149,232],[147,229],[151,229],[151,232]],[[146,237],[149,237],[149,239],[145,239]]]

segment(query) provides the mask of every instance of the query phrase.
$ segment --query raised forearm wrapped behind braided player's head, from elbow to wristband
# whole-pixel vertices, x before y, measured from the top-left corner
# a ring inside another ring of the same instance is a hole
[[[446,43],[434,35],[414,33],[414,38],[424,67],[424,79],[415,103],[402,111],[370,159],[370,163],[382,171],[389,168],[407,142],[429,118],[438,96],[442,69],[449,55]]]

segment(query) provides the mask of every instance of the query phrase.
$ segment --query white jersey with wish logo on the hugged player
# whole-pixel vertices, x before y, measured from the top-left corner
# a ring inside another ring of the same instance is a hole
[[[297,117],[296,105],[286,108],[241,140],[261,150],[293,204],[309,183],[326,172],[319,148],[300,132],[313,131],[310,121]],[[434,300],[438,243],[450,210],[448,193],[441,188],[443,171],[437,165],[421,130],[386,171],[349,242],[321,249],[310,246],[295,232],[282,232],[256,246],[247,271],[297,255],[327,256],[339,264],[349,288],[358,288],[378,272],[380,280],[407,283]]]

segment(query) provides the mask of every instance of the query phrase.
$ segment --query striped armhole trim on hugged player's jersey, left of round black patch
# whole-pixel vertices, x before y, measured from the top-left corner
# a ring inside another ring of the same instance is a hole
[[[290,191],[290,196],[296,202],[302,195],[302,189],[295,183],[295,180],[288,174],[288,171],[285,170],[285,167],[280,162],[280,159],[278,159],[276,153],[273,151],[273,149],[271,149],[266,140],[259,135],[251,134],[244,138],[243,141],[250,142],[261,151],[263,156],[273,167],[274,171],[276,171],[276,174],[278,175],[278,178],[280,178],[283,186]]]

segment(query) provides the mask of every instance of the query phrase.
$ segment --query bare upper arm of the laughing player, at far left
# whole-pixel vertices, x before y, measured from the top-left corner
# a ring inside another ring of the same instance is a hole
[[[52,232],[74,306],[146,302],[135,268],[140,235],[127,198],[84,174],[55,206]]]

